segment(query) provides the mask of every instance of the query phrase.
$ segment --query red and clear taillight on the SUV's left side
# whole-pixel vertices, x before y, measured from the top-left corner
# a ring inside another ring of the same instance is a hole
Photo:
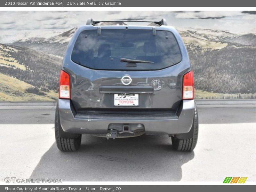
[[[70,99],[70,77],[65,71],[60,71],[59,98]]]

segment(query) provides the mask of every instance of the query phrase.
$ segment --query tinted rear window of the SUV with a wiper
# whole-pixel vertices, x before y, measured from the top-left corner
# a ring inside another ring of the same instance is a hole
[[[123,58],[123,59],[121,59]],[[181,61],[178,43],[169,31],[103,29],[82,31],[71,60],[92,69],[157,70]]]

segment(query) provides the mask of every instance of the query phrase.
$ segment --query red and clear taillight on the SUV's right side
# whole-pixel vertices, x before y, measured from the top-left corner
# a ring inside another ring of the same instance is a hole
[[[194,77],[193,71],[183,76],[182,99],[194,99]]]

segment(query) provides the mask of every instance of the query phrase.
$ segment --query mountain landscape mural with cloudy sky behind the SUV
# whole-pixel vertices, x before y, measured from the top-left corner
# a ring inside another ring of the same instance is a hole
[[[68,41],[88,18],[160,20],[180,32],[197,99],[256,99],[256,12],[0,12],[0,101],[57,100]]]

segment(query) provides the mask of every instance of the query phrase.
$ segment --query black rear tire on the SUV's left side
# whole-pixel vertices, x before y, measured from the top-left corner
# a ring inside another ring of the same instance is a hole
[[[58,104],[55,111],[55,140],[61,151],[76,151],[81,145],[82,134],[64,132],[60,125]]]

